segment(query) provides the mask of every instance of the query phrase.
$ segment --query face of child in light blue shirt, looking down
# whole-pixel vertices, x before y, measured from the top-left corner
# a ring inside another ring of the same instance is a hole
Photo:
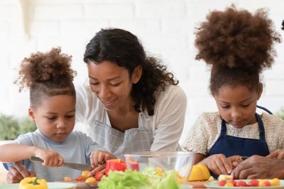
[[[29,108],[28,116],[40,133],[55,142],[62,142],[75,126],[75,102],[72,95],[55,95],[43,98],[38,107]]]

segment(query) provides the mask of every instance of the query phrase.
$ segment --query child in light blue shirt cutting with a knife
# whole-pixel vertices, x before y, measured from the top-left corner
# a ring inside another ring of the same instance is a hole
[[[0,146],[0,161],[22,161],[28,171],[35,171],[48,181],[63,180],[68,175],[79,176],[82,171],[60,167],[64,161],[91,164],[115,158],[91,138],[80,131],[72,131],[75,125],[75,87],[72,83],[75,71],[70,68],[71,56],[53,48],[48,53],[35,53],[21,64],[18,80],[20,92],[30,89],[31,107],[28,117],[38,129],[18,136],[13,144]],[[36,156],[43,164],[29,161]],[[45,167],[48,166],[48,167]]]

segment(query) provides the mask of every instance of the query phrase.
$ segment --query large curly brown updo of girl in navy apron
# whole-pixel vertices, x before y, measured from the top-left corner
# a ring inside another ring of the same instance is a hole
[[[235,6],[210,12],[195,35],[196,59],[212,65],[212,94],[223,85],[258,86],[259,73],[274,61],[274,43],[280,43],[264,9],[252,14]]]

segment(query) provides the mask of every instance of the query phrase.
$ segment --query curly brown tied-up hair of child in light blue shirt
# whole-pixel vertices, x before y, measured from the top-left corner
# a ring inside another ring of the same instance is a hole
[[[71,69],[71,56],[61,53],[61,48],[53,48],[47,53],[32,53],[20,65],[15,84],[19,91],[30,89],[31,107],[36,107],[44,97],[74,95],[72,83],[76,72]]]

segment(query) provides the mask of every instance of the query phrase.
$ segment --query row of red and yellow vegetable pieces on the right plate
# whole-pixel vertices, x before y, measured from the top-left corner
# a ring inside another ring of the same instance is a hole
[[[229,177],[222,177],[226,180],[220,180],[218,185],[225,186],[225,187],[267,187],[267,186],[278,186],[280,185],[280,180],[278,178],[273,178],[272,180],[269,179],[251,179],[247,180],[231,180],[227,179]]]

